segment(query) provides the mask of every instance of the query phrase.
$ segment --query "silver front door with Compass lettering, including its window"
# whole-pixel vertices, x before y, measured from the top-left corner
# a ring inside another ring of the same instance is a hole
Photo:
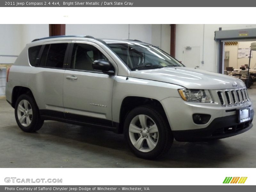
[[[116,76],[92,68],[94,60],[109,60],[99,45],[76,41],[71,45],[69,67],[63,77],[65,117],[71,120],[112,126],[112,91]]]

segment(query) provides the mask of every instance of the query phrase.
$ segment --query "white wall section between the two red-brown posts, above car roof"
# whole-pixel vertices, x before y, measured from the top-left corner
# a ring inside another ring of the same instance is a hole
[[[158,46],[165,52],[170,53],[171,27],[169,24],[66,24],[66,35],[138,39]]]

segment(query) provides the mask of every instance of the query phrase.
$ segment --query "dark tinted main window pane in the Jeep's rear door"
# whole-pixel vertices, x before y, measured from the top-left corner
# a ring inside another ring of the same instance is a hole
[[[45,66],[62,68],[67,47],[68,43],[51,44]]]

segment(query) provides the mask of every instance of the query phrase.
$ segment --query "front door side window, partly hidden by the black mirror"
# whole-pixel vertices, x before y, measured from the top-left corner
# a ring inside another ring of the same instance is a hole
[[[95,60],[108,60],[96,47],[89,44],[74,44],[71,69],[97,71],[92,68]]]

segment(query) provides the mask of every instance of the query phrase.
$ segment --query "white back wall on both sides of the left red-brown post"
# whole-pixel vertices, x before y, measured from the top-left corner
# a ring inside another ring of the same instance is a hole
[[[66,35],[91,35],[113,39],[138,39],[170,53],[169,24],[67,24]],[[0,25],[0,55],[19,55],[33,39],[49,36],[48,24]],[[13,63],[16,57],[0,57],[0,63]]]

